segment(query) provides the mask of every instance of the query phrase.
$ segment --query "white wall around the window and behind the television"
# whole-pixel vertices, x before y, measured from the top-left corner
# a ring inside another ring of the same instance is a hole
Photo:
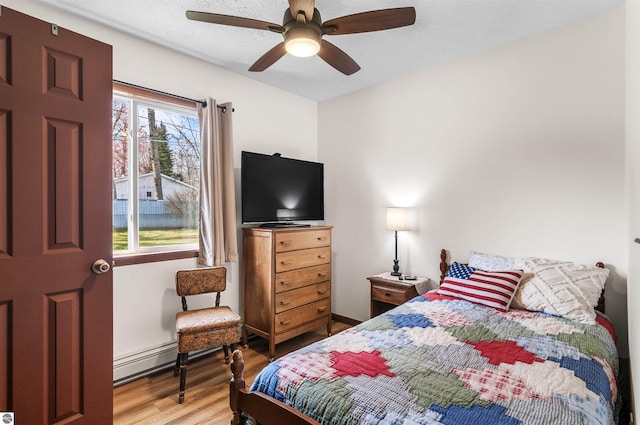
[[[314,101],[120,34],[34,0],[3,0],[2,4],[111,44],[113,78],[116,80],[193,99],[210,96],[219,103],[233,102],[237,169],[242,150],[281,152],[287,157],[317,159],[318,114]],[[239,175],[239,170],[236,171]],[[114,379],[175,356],[175,345],[172,345],[175,341],[174,320],[175,312],[181,307],[175,296],[173,273],[182,267],[195,266],[193,259],[114,270]],[[229,267],[229,285],[223,302],[239,312],[241,280],[238,270],[238,264]],[[145,362],[139,363],[140,359]]]

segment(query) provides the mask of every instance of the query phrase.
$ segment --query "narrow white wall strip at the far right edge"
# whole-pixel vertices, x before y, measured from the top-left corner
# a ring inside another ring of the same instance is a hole
[[[640,370],[640,2],[626,2],[627,41],[627,246],[629,262],[629,352],[631,370]],[[637,301],[637,302],[636,302]],[[633,380],[633,392],[640,394],[640,378]],[[636,397],[636,400],[640,398]],[[638,412],[636,404],[634,412]]]

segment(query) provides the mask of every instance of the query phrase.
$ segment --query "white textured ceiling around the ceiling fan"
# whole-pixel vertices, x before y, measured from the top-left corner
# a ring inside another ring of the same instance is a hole
[[[416,9],[416,24],[410,27],[329,37],[362,67],[345,76],[318,57],[288,55],[264,72],[248,72],[256,59],[282,41],[280,34],[185,17],[185,11],[196,10],[281,24],[286,0],[39,1],[318,101],[624,4],[624,0],[316,0],[323,21],[374,9]]]

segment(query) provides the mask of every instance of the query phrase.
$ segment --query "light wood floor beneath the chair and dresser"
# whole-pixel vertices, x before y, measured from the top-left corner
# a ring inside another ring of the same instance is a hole
[[[349,327],[334,321],[332,333]],[[325,332],[318,330],[278,344],[276,358],[326,336]],[[267,341],[261,338],[250,340],[249,348],[242,349],[242,353],[246,365],[244,376],[250,385],[268,364]],[[113,389],[113,423],[228,425],[231,421],[230,379],[229,365],[225,364],[222,350],[219,350],[189,363],[183,404],[178,404],[179,378],[173,376],[173,368],[116,387]]]

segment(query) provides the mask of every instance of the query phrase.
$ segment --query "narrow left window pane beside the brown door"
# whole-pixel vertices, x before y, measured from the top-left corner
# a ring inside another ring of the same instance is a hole
[[[128,249],[129,238],[129,99],[113,96],[113,250]]]

